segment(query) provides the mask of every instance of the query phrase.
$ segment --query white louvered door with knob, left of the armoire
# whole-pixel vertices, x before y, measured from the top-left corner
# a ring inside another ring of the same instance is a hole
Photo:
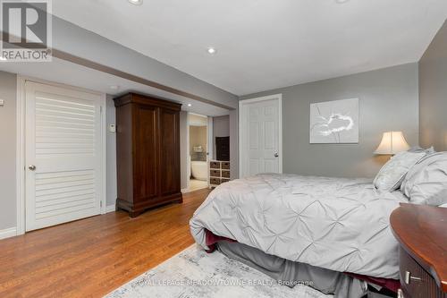
[[[26,81],[25,98],[26,231],[99,214],[104,97]]]

